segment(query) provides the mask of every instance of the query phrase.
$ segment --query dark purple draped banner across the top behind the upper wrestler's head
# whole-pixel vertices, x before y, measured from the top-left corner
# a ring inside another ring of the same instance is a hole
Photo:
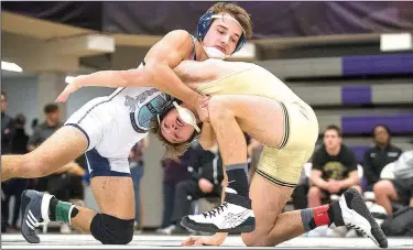
[[[413,31],[413,2],[233,2],[251,17],[254,39]],[[194,32],[214,2],[1,2],[2,9],[105,32]]]

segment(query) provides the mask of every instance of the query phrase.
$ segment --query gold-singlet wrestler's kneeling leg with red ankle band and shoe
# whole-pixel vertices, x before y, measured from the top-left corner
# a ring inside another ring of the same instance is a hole
[[[256,215],[256,230],[242,235],[247,246],[273,247],[316,227],[334,224],[361,228],[366,237],[381,248],[387,248],[384,233],[356,189],[347,191],[339,200],[328,205],[281,214],[291,193],[291,187],[275,185],[259,174],[254,175],[250,198]]]

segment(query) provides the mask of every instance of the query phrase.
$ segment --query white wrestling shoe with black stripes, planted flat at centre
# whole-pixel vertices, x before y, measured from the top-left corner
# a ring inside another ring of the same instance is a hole
[[[251,232],[256,229],[256,217],[251,209],[251,199],[226,189],[225,202],[210,211],[185,216],[181,225],[199,232]]]

